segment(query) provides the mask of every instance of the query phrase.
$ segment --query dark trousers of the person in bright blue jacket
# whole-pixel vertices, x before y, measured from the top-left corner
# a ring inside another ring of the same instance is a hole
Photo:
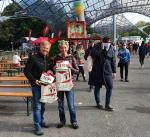
[[[120,64],[120,77],[123,79],[123,71],[125,68],[125,80],[128,79],[128,63]]]

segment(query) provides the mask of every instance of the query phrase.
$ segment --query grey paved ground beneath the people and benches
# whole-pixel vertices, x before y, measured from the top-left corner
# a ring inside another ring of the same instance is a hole
[[[46,121],[49,129],[44,129],[45,137],[150,137],[150,58],[141,69],[137,57],[133,57],[129,69],[129,83],[119,81],[119,73],[114,82],[112,105],[114,112],[98,110],[93,93],[88,92],[86,82],[76,82],[77,117],[80,128],[67,126],[57,129],[59,122],[57,103],[47,105]],[[119,72],[119,70],[117,70]],[[105,101],[105,89],[102,91]],[[67,109],[67,108],[66,108]],[[32,128],[32,114],[27,117],[25,104],[21,98],[0,99],[0,137],[35,136]]]

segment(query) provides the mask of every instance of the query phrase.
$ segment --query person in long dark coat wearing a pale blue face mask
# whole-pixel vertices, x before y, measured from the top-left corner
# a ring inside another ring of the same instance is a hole
[[[98,109],[103,109],[100,103],[100,88],[106,87],[105,110],[113,111],[110,99],[113,88],[113,79],[116,76],[116,58],[113,47],[108,37],[103,38],[103,43],[94,46],[91,56],[94,59],[89,84],[95,86],[94,96]]]

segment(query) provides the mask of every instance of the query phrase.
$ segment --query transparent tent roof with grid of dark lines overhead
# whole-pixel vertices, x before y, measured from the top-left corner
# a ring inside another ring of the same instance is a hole
[[[6,1],[6,0],[0,0]],[[23,13],[40,18],[55,29],[66,20],[75,20],[73,4],[77,0],[8,0],[16,2]],[[82,0],[85,6],[85,19],[88,26],[95,22],[96,30],[102,35],[111,35],[112,16],[117,15],[117,33],[129,30],[132,24],[121,13],[134,12],[150,17],[149,0]],[[106,31],[107,29],[107,31]],[[102,32],[103,31],[103,32]],[[107,33],[106,33],[107,32]]]

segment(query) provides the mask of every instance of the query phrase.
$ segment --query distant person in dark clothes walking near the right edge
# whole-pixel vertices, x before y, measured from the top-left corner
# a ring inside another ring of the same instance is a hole
[[[141,68],[144,67],[144,59],[145,59],[145,55],[147,54],[147,52],[148,52],[148,48],[145,46],[144,41],[142,41],[141,46],[138,49]]]

